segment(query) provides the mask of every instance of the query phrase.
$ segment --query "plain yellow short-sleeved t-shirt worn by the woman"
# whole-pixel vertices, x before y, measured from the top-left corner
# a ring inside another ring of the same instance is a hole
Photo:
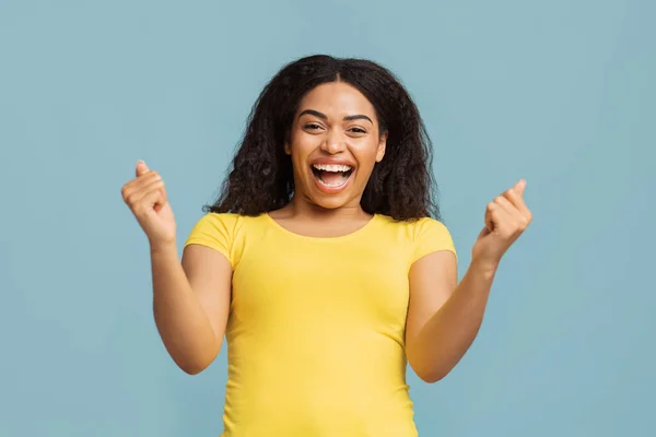
[[[335,238],[209,213],[186,245],[233,267],[225,437],[417,436],[406,383],[412,262],[450,250],[433,218],[375,215]]]

